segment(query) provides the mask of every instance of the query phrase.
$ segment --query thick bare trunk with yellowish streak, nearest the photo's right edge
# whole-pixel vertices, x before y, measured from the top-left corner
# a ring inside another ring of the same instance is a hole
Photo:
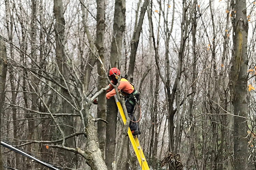
[[[236,1],[234,49],[231,67],[231,92],[234,105],[234,169],[247,170],[247,35],[246,0]]]

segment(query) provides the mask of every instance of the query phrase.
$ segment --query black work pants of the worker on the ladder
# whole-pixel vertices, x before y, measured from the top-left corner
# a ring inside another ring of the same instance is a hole
[[[137,121],[136,117],[133,116],[133,110],[134,110],[135,105],[136,105],[136,100],[135,100],[134,97],[131,97],[131,98],[129,98],[125,101],[125,106],[126,106],[126,109],[127,109],[128,116],[129,116],[130,120],[133,121],[133,122],[130,121],[130,123],[129,123],[129,127],[130,127],[131,131],[140,129],[139,126],[138,126],[138,123],[136,122]],[[136,122],[136,123],[134,123],[134,122]]]

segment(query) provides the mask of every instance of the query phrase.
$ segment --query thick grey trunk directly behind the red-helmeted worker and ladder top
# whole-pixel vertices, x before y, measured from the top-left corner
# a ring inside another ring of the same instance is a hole
[[[120,61],[122,40],[125,28],[125,0],[115,1],[115,13],[113,24],[113,36],[110,52],[110,66],[119,68],[118,61]],[[112,163],[115,156],[115,138],[116,138],[116,122],[117,122],[117,105],[114,98],[107,100],[106,120],[106,165],[108,169],[112,169]],[[127,152],[127,149],[124,150]]]

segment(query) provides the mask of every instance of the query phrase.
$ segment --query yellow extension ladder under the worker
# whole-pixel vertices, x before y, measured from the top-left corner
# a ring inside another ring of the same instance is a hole
[[[123,122],[125,124],[126,123],[126,118],[125,118],[125,114],[124,114],[123,108],[121,106],[121,103],[118,101],[116,95],[114,97],[115,97],[116,105],[118,107],[120,115],[121,115],[121,117],[123,119]],[[140,147],[140,143],[139,143],[138,137],[137,137],[137,135],[136,136],[132,136],[130,128],[128,128],[128,136],[130,138],[131,145],[132,145],[132,147],[134,149],[134,152],[135,152],[135,154],[136,154],[136,156],[138,158],[138,161],[139,161],[141,169],[142,170],[150,170],[148,165],[147,165],[147,161],[146,161],[146,158],[145,158],[145,156],[143,154],[143,151],[142,151],[142,149]]]

